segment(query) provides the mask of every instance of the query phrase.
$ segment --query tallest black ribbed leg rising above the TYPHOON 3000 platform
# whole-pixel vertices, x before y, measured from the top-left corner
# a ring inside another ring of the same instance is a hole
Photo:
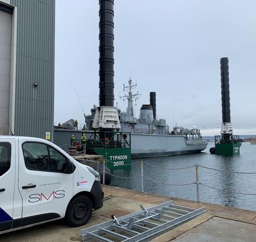
[[[99,106],[114,106],[114,0],[99,0]]]

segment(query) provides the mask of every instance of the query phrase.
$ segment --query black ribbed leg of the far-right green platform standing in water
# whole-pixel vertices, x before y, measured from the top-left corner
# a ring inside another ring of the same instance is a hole
[[[228,58],[220,59],[222,123],[230,123]]]

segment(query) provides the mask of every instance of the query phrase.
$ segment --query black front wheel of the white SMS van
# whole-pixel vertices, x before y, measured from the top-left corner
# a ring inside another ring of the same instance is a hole
[[[82,226],[90,219],[92,215],[92,202],[84,196],[78,196],[68,206],[66,213],[67,223],[71,227]]]

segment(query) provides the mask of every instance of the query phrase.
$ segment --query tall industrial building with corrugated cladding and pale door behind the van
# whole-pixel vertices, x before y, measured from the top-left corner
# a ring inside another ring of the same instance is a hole
[[[53,141],[55,0],[0,0],[0,135]]]

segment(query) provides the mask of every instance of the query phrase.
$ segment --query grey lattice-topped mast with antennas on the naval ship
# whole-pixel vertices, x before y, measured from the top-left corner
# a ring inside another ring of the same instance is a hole
[[[132,89],[134,89],[137,86],[136,84],[132,84],[132,79],[131,77],[128,80],[128,86],[124,85],[124,92],[125,90],[128,91],[128,95],[124,94],[124,96],[120,96],[120,99],[122,99],[123,101],[125,99],[128,100],[128,105],[127,105],[127,109],[126,109],[126,114],[125,114],[125,121],[126,122],[134,122],[134,112],[133,112],[133,99],[137,100],[141,97],[141,94],[139,94],[139,92],[132,94]]]

